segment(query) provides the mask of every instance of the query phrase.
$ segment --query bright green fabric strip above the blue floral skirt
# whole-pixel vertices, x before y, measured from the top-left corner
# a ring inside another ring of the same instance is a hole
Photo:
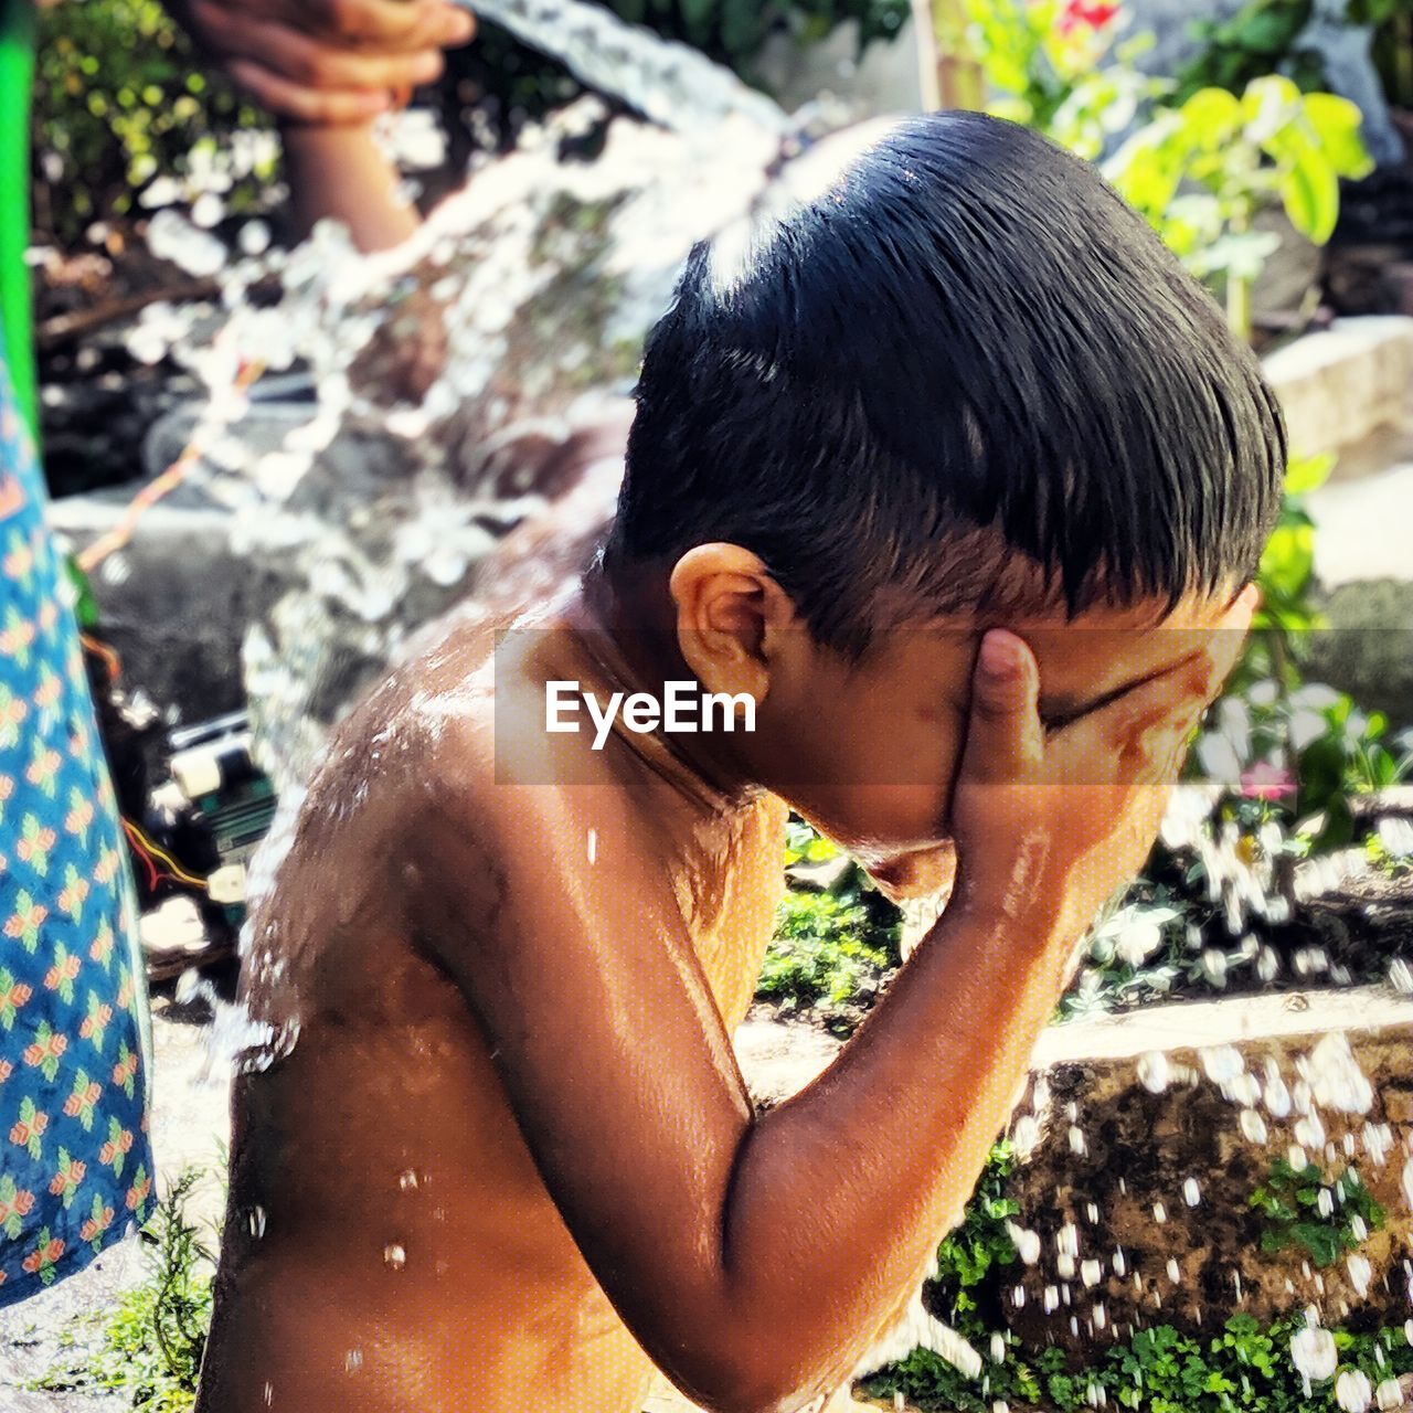
[[[38,439],[34,345],[30,326],[30,89],[34,83],[34,6],[0,0],[0,333],[20,411]]]

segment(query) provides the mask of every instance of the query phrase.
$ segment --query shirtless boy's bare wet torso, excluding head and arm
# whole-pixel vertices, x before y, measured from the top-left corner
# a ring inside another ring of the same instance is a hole
[[[514,866],[499,879],[456,872],[465,820],[504,811],[490,666],[489,634],[462,627],[370,699],[314,781],[280,868],[277,920],[257,930],[246,996],[259,1020],[297,1020],[298,1041],[237,1080],[202,1413],[643,1406],[651,1364],[545,1190],[447,961],[493,945],[497,913],[520,906]],[[591,872],[612,879],[617,926],[670,896],[636,896],[634,877],[670,880],[701,985],[731,1031],[783,886],[784,805],[714,798],[660,747],[644,757],[634,750],[650,745],[620,740],[602,784],[531,787],[555,798],[502,846],[533,851],[544,889]],[[452,797],[461,803],[448,810]],[[680,856],[650,856],[668,817],[671,838],[685,841]],[[572,822],[579,846],[537,839],[550,818]],[[650,928],[643,941],[661,945]],[[595,959],[547,954],[543,965],[548,989],[557,969]],[[630,974],[605,989],[622,999],[613,1024],[630,1044],[650,998],[634,995]],[[726,1050],[716,1058],[733,1067]],[[666,1056],[644,1063],[667,1078]],[[572,1065],[564,1081],[574,1085]],[[602,1146],[612,1161],[612,1135]]]

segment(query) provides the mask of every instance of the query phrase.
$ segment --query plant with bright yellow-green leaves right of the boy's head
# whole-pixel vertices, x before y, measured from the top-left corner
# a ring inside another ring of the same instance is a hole
[[[1251,287],[1279,239],[1252,229],[1256,212],[1279,201],[1296,230],[1324,244],[1340,213],[1340,178],[1373,167],[1361,123],[1348,99],[1265,75],[1239,97],[1205,88],[1160,109],[1104,172],[1188,270],[1221,281],[1232,332],[1249,339]]]

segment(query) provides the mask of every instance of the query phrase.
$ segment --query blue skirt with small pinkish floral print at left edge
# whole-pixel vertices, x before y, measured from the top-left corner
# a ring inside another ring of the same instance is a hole
[[[137,913],[72,588],[0,348],[0,1306],[146,1221]]]

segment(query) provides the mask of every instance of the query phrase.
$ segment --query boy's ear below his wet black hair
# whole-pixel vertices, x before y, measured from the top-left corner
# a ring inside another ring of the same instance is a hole
[[[677,646],[708,692],[770,691],[781,649],[801,636],[800,616],[764,561],[739,544],[688,550],[667,581],[677,612]]]

